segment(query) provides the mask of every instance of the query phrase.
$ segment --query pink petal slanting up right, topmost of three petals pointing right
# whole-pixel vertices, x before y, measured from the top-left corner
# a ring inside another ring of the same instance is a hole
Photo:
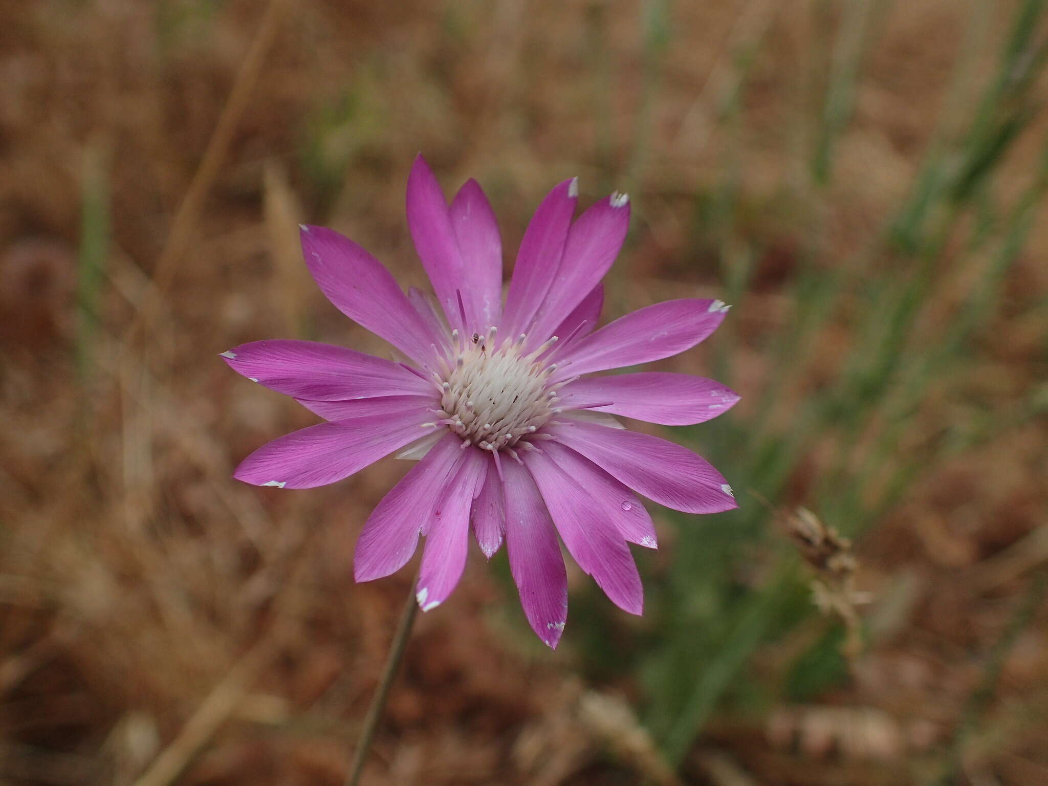
[[[558,358],[554,378],[635,366],[690,349],[724,321],[719,300],[670,300],[615,320]]]

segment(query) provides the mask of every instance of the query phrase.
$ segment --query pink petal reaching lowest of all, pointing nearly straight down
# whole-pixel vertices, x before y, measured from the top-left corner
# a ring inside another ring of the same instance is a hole
[[[568,619],[568,574],[556,530],[527,470],[507,461],[503,473],[509,570],[531,630],[556,649]]]

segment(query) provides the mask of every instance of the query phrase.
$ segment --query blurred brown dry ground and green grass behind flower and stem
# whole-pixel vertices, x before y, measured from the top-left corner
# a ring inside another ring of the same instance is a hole
[[[1046,52],[1043,0],[0,3],[0,782],[342,783],[407,466],[232,480],[314,418],[217,353],[385,353],[296,224],[421,284],[422,151],[507,268],[628,191],[606,320],[733,304],[659,367],[741,393],[662,432],[740,509],[653,510],[642,617],[573,569],[556,652],[474,549],[365,783],[1048,784]]]

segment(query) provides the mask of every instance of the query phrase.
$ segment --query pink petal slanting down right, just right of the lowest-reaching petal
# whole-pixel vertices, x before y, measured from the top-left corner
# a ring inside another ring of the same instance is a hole
[[[525,451],[523,459],[578,567],[623,611],[641,613],[643,588],[633,554],[593,495],[545,454]]]

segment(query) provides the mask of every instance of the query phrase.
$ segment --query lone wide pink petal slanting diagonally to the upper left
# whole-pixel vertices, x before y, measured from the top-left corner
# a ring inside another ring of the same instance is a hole
[[[439,339],[378,260],[323,226],[303,226],[301,237],[309,272],[335,308],[416,363],[432,361],[431,345]]]

